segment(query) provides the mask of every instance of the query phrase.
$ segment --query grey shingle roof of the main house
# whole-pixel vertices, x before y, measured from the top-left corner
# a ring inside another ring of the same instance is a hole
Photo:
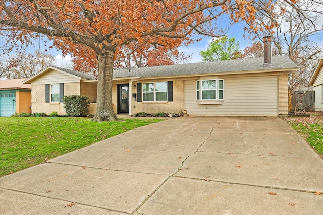
[[[224,60],[200,63],[187,63],[177,65],[153,66],[142,68],[120,69],[113,71],[113,78],[123,77],[161,77],[161,76],[181,76],[181,75],[199,75],[210,73],[226,73],[241,71],[264,71],[264,70],[291,70],[296,69],[297,65],[287,56],[273,56],[273,66],[264,67],[263,58],[250,58],[239,60]],[[72,75],[85,78],[95,79],[92,73],[81,73],[71,69],[58,68]]]

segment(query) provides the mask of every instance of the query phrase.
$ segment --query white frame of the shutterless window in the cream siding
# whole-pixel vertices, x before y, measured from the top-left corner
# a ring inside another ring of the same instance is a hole
[[[216,88],[214,89],[202,89],[202,83],[203,81],[216,81]],[[223,88],[219,88],[219,81],[222,81]],[[195,97],[196,97],[196,103],[197,104],[224,104],[225,98],[224,98],[224,79],[201,79],[197,80],[195,83]],[[199,86],[199,89],[198,89]],[[216,98],[215,99],[203,99],[203,91],[215,91]],[[223,98],[219,99],[219,91],[223,92]],[[198,98],[199,95],[199,98]]]

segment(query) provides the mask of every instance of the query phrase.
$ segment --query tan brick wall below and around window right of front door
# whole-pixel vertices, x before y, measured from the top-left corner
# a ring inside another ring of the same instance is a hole
[[[117,92],[117,91],[113,91]],[[133,89],[133,93],[137,89]],[[184,81],[173,81],[173,101],[172,102],[137,102],[132,99],[132,115],[139,112],[146,113],[178,113],[184,109]],[[117,99],[116,99],[117,101]],[[134,107],[135,106],[135,107]]]

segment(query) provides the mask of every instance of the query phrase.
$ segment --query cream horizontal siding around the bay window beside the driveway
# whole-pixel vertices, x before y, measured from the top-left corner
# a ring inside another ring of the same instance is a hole
[[[278,115],[278,77],[225,78],[225,104],[196,104],[196,81],[185,81],[185,109],[196,115]]]

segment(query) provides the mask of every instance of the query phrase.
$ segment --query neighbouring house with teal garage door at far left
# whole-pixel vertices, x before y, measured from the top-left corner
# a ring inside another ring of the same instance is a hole
[[[31,85],[24,80],[0,80],[0,116],[31,113]]]

